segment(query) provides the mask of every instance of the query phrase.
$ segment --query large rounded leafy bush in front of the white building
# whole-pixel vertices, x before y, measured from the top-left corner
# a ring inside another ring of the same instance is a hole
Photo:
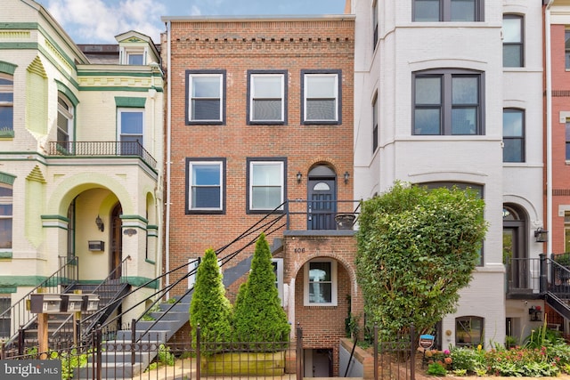
[[[428,332],[454,312],[485,238],[485,202],[474,190],[395,182],[362,202],[356,271],[368,327],[383,338],[413,323]]]

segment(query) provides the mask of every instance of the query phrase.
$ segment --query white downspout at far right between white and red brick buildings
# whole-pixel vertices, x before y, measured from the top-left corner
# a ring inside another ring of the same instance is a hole
[[[546,254],[552,254],[552,52],[550,41],[550,6],[554,0],[549,0],[544,12],[544,50],[546,77],[546,226],[550,230],[550,239],[546,243]]]

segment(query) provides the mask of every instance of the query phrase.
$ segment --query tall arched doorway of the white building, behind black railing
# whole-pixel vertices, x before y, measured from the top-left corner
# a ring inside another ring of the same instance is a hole
[[[502,258],[508,269],[509,289],[526,289],[530,285],[526,249],[526,214],[516,205],[502,209]]]

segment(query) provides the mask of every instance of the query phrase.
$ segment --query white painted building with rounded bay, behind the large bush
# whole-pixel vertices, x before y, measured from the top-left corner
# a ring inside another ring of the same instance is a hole
[[[479,190],[490,226],[481,262],[438,340],[526,336],[540,324],[528,311],[543,308],[538,272],[507,267],[503,253],[543,252],[533,234],[543,212],[542,4],[353,0],[351,12],[355,198],[396,180]],[[511,299],[514,287],[524,295]]]

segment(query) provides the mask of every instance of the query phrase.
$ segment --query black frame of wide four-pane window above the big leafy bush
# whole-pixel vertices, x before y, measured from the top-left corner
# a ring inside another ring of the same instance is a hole
[[[416,102],[416,80],[418,78],[441,78],[440,103],[421,104]],[[477,78],[477,103],[453,103],[452,81],[455,77]],[[472,69],[427,69],[415,71],[411,79],[411,134],[414,136],[483,136],[485,135],[485,72]],[[475,133],[453,133],[452,110],[468,109],[476,106]],[[439,133],[416,133],[416,111],[419,109],[439,109],[440,125]]]

